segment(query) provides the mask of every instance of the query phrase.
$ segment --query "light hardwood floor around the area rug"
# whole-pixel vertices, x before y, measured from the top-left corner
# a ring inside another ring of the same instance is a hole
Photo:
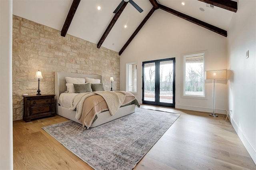
[[[224,122],[223,117],[148,105],[141,107],[181,115],[135,170],[256,170],[234,128]],[[41,128],[66,120],[56,115],[28,123],[14,121],[14,169],[91,170]]]

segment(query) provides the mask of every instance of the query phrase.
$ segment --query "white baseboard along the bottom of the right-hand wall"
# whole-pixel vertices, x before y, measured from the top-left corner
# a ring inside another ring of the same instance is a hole
[[[236,133],[238,134],[240,140],[242,141],[242,143],[244,144],[244,147],[246,148],[246,150],[248,151],[248,153],[250,154],[252,160],[254,161],[254,163],[256,164],[256,148],[254,148],[252,146],[252,144],[248,141],[248,139],[246,138],[246,136],[244,136],[244,133],[242,132],[242,130],[238,127],[236,121],[234,121],[234,119],[232,117],[230,117],[230,115],[228,115],[228,118],[233,126],[233,128],[236,130]]]

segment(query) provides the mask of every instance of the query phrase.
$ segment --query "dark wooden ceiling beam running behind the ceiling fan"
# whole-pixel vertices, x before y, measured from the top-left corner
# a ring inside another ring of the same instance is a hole
[[[104,40],[107,38],[109,32],[111,31],[111,29],[113,28],[113,26],[116,24],[117,19],[119,18],[119,16],[122,14],[124,8],[126,7],[126,5],[128,4],[128,2],[124,2],[124,4],[121,6],[121,8],[118,10],[118,12],[116,12],[116,14],[114,15],[114,17],[112,18],[111,22],[108,24],[107,29],[105,30],[104,34],[102,35],[102,37],[100,38],[100,41],[97,44],[97,48],[100,48],[100,46],[102,45],[102,43],[104,42]]]

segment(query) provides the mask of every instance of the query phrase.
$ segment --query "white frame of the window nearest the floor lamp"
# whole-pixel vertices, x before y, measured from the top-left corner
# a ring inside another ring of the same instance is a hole
[[[204,83],[204,95],[186,95],[186,57],[196,57],[196,56],[203,56],[204,57],[204,70],[203,70],[203,79],[204,79],[204,71],[205,71],[205,67],[206,67],[206,55],[207,55],[207,51],[199,51],[199,52],[195,52],[195,53],[187,53],[187,54],[182,54],[182,98],[188,98],[188,99],[208,99],[207,96],[207,86],[205,84],[205,81],[203,81]]]

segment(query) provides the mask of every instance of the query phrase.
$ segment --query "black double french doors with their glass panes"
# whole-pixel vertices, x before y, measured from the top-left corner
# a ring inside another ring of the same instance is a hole
[[[175,58],[142,62],[142,104],[175,107]]]

